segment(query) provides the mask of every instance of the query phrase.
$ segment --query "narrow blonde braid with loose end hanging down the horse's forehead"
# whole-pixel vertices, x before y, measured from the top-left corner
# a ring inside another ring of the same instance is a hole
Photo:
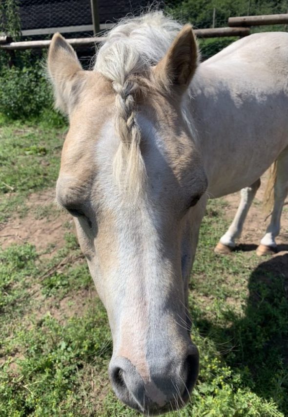
[[[113,162],[115,178],[121,187],[137,196],[145,178],[140,150],[141,132],[135,112],[135,94],[139,86],[134,80],[127,79],[123,84],[113,81],[112,87],[116,92],[116,130],[120,136],[120,146]]]

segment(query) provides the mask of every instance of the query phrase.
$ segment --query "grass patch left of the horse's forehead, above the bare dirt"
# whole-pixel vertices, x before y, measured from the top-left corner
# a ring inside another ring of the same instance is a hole
[[[24,216],[27,196],[55,184],[66,127],[52,122],[35,127],[0,117],[0,221]]]

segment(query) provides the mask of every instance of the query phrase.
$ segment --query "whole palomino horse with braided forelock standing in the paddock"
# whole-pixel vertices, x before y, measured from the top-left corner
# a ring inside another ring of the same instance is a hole
[[[288,34],[199,57],[192,26],[162,12],[112,28],[92,70],[60,34],[48,54],[69,118],[56,198],[107,310],[112,387],[147,415],[184,406],[197,380],[187,296],[208,197],[242,190],[229,249],[275,163],[269,250],[288,192]]]

